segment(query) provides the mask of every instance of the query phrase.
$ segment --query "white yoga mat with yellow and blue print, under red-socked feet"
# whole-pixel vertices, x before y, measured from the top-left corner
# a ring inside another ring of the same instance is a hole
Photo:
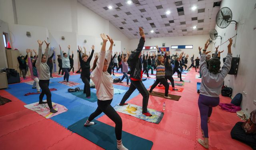
[[[122,112],[123,114],[128,114],[130,116],[134,116],[136,118],[145,120],[147,122],[152,122],[155,124],[159,124],[164,116],[163,112],[159,112],[157,110],[150,109],[150,108],[148,108],[148,112],[152,114],[152,116],[151,117],[145,116],[144,114],[142,114],[142,107],[134,104],[128,104],[123,106],[116,105],[114,106],[114,109],[117,112]]]

